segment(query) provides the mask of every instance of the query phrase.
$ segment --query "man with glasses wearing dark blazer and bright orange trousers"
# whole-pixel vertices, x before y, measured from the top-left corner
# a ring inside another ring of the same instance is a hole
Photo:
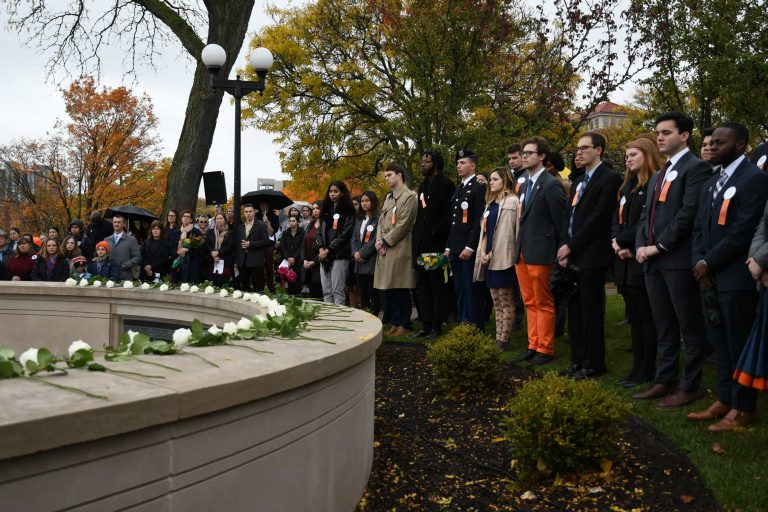
[[[520,228],[515,269],[528,315],[528,350],[513,361],[546,364],[555,355],[555,299],[550,286],[565,212],[565,189],[546,170],[549,142],[523,143],[527,179],[520,187]]]

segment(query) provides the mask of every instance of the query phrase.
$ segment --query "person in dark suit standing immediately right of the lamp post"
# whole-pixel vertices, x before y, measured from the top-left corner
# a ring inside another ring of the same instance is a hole
[[[256,220],[256,210],[247,204],[243,208],[245,222],[237,230],[237,267],[244,291],[264,291],[264,265],[267,263],[265,249],[275,242],[269,239],[267,225]]]

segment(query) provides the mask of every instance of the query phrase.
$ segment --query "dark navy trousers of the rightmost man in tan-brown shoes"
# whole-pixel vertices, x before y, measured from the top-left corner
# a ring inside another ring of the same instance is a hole
[[[717,399],[734,409],[754,412],[757,390],[733,380],[733,372],[747,341],[757,314],[759,295],[756,290],[718,292],[722,322],[714,326],[705,315],[707,338],[715,351],[715,386]],[[702,301],[703,303],[703,301]]]

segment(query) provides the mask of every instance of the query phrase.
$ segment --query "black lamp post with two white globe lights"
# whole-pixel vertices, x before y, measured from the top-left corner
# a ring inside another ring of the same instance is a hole
[[[213,90],[222,90],[228,92],[235,98],[235,236],[237,236],[237,229],[240,226],[240,199],[242,193],[240,192],[240,99],[243,96],[247,96],[253,91],[264,92],[264,84],[267,77],[267,71],[272,67],[274,58],[272,52],[266,48],[256,48],[251,52],[249,61],[251,67],[256,71],[259,76],[257,82],[250,82],[240,80],[240,75],[237,75],[237,80],[228,80],[226,78],[219,78],[219,70],[227,60],[227,52],[224,48],[217,44],[209,44],[203,48],[201,54],[203,64],[206,65],[208,71],[211,72],[211,88]]]

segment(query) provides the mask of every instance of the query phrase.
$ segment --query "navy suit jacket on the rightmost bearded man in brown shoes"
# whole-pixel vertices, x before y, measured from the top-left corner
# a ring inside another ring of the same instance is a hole
[[[754,291],[755,281],[744,262],[768,199],[768,175],[744,158],[713,203],[717,179],[717,175],[712,176],[699,195],[691,267],[704,260],[714,274],[715,286],[720,292]],[[734,190],[735,194],[726,211],[725,225],[721,226],[718,220],[728,190]]]

